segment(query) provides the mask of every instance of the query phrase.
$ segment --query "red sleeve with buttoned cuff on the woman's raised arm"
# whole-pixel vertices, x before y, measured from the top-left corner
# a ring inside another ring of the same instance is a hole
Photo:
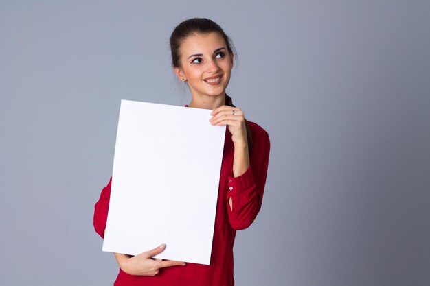
[[[252,137],[253,152],[250,166],[244,174],[228,178],[227,213],[231,227],[236,230],[248,228],[260,211],[264,184],[269,165],[269,135],[262,128]],[[231,198],[233,211],[228,204]]]

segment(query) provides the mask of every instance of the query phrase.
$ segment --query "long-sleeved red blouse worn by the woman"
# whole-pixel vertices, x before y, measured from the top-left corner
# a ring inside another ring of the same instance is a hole
[[[236,230],[249,227],[260,211],[269,164],[269,135],[258,124],[250,121],[248,123],[253,142],[250,166],[244,174],[236,178],[232,176],[234,144],[231,141],[231,133],[226,128],[210,265],[187,263],[185,266],[162,268],[156,276],[133,276],[120,270],[114,285],[234,285],[233,245]],[[101,237],[106,228],[111,181],[112,178],[95,204],[94,228]],[[228,204],[230,197],[233,211]]]

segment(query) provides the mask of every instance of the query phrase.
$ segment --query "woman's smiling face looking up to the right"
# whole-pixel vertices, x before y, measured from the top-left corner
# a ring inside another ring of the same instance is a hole
[[[174,72],[179,80],[185,78],[193,98],[225,95],[233,55],[220,34],[188,36],[181,44],[180,54],[181,67],[175,67]]]

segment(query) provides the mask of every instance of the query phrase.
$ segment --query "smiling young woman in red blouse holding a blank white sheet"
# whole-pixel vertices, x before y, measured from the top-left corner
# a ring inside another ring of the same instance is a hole
[[[170,37],[172,65],[188,84],[189,107],[213,110],[208,124],[227,126],[220,172],[218,203],[210,265],[152,259],[164,245],[130,257],[115,253],[120,274],[115,285],[232,286],[236,230],[247,228],[262,204],[269,163],[269,136],[245,120],[225,93],[234,62],[234,49],[223,29],[209,19],[188,19]],[[111,180],[95,204],[95,231],[104,237]],[[250,250],[252,251],[252,250]]]

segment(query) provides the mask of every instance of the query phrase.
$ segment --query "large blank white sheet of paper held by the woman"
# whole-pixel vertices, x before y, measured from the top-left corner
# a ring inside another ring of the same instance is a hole
[[[209,265],[225,126],[211,110],[122,100],[103,251]]]

